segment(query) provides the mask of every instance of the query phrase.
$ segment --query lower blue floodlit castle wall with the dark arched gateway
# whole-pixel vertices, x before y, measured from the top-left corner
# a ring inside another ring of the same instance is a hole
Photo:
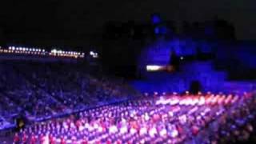
[[[132,85],[142,93],[179,92],[190,90],[190,83],[201,83],[202,92],[236,93],[255,90],[256,81],[227,81],[226,71],[214,70],[213,62],[190,62],[178,73],[148,73],[147,79],[134,81]]]

